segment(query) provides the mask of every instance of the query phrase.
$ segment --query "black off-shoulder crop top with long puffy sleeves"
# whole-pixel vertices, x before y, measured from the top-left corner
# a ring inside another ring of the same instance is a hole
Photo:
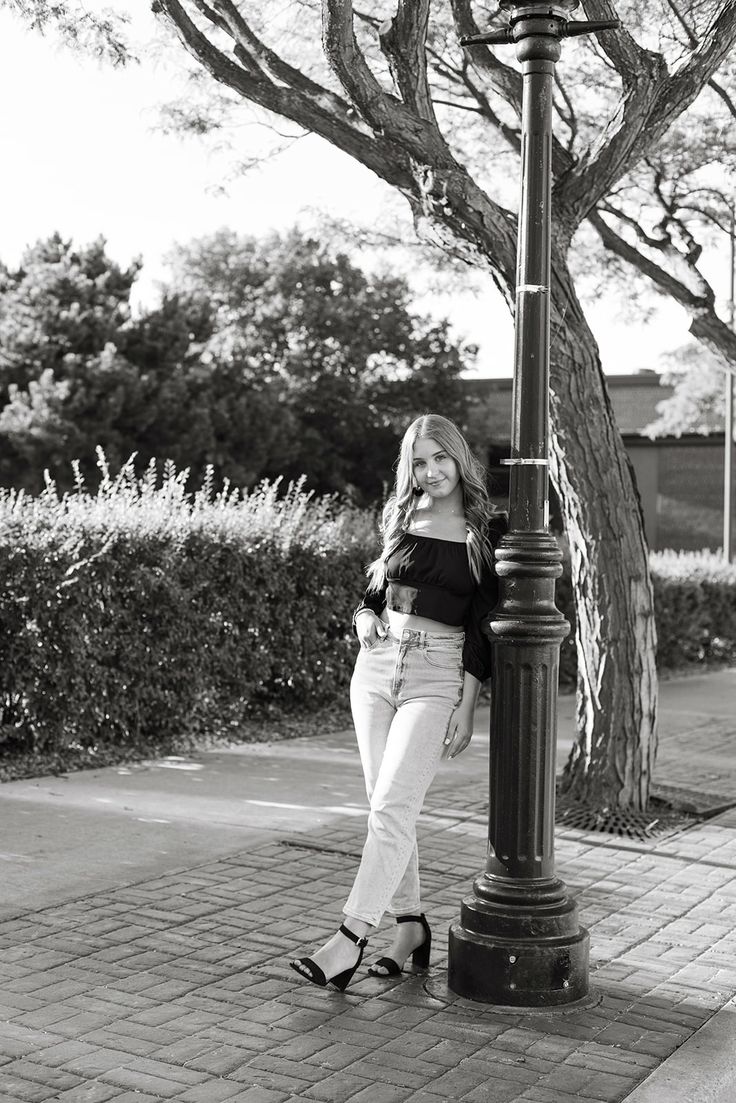
[[[493,547],[505,531],[506,515],[495,514],[488,527]],[[484,567],[476,582],[466,544],[405,533],[386,563],[385,583],[380,590],[365,591],[355,614],[371,609],[380,617],[386,608],[465,628],[463,666],[484,682],[491,674],[491,649],[481,625],[498,600],[495,571]]]

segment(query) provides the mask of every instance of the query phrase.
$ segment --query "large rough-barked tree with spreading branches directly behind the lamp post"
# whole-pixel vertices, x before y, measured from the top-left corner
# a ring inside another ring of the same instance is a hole
[[[418,233],[484,266],[511,304],[514,215],[492,169],[501,143],[519,149],[518,71],[488,50],[459,50],[458,34],[478,30],[470,0],[451,0],[449,12],[429,0],[399,0],[385,22],[359,15],[346,0],[323,0],[321,8],[323,58],[308,46],[316,38],[308,0],[291,8],[288,29],[284,18],[265,20],[257,3],[154,6],[221,88],[320,135],[393,184]],[[630,25],[642,41],[625,26],[576,52],[570,46],[568,66],[585,60],[597,82],[587,118],[569,68],[559,85],[566,140],[557,138],[553,150],[553,476],[572,549],[579,656],[578,742],[567,786],[598,803],[647,802],[655,633],[640,511],[576,295],[570,246],[727,57],[734,6],[701,0],[697,10],[702,34],[671,68],[670,44],[651,47],[644,6],[636,2],[628,6]],[[615,14],[614,4],[598,0],[585,11],[593,19]],[[483,133],[483,165],[462,117]]]

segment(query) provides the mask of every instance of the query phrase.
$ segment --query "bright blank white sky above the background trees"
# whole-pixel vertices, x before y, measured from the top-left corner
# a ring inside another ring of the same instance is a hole
[[[137,17],[146,31],[147,12]],[[391,190],[346,154],[316,137],[228,182],[231,159],[195,138],[166,136],[158,107],[177,94],[160,61],[113,69],[24,29],[0,7],[0,259],[58,231],[85,244],[100,234],[120,264],[141,257],[138,301],[166,278],[163,257],[175,243],[230,226],[244,234],[310,224],[314,212],[359,223],[377,218]],[[12,106],[11,106],[12,105]],[[243,128],[244,149],[266,140]],[[419,293],[422,312],[448,317],[457,336],[479,347],[479,376],[510,376],[513,326],[490,278],[451,295]],[[687,318],[664,303],[647,323],[614,301],[586,302],[604,370],[660,368],[659,356],[687,340]]]

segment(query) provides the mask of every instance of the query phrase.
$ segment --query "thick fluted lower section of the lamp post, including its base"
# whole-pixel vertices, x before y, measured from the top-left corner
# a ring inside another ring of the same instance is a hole
[[[588,934],[555,876],[562,556],[545,533],[510,533],[497,550],[504,598],[495,636],[488,860],[450,928],[448,984],[484,1003],[567,1004],[588,990]]]

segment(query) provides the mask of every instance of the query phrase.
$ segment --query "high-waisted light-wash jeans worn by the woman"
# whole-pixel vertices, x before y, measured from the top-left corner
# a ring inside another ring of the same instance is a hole
[[[463,633],[388,630],[361,649],[350,703],[371,811],[346,915],[377,927],[420,910],[416,822],[462,696]]]

